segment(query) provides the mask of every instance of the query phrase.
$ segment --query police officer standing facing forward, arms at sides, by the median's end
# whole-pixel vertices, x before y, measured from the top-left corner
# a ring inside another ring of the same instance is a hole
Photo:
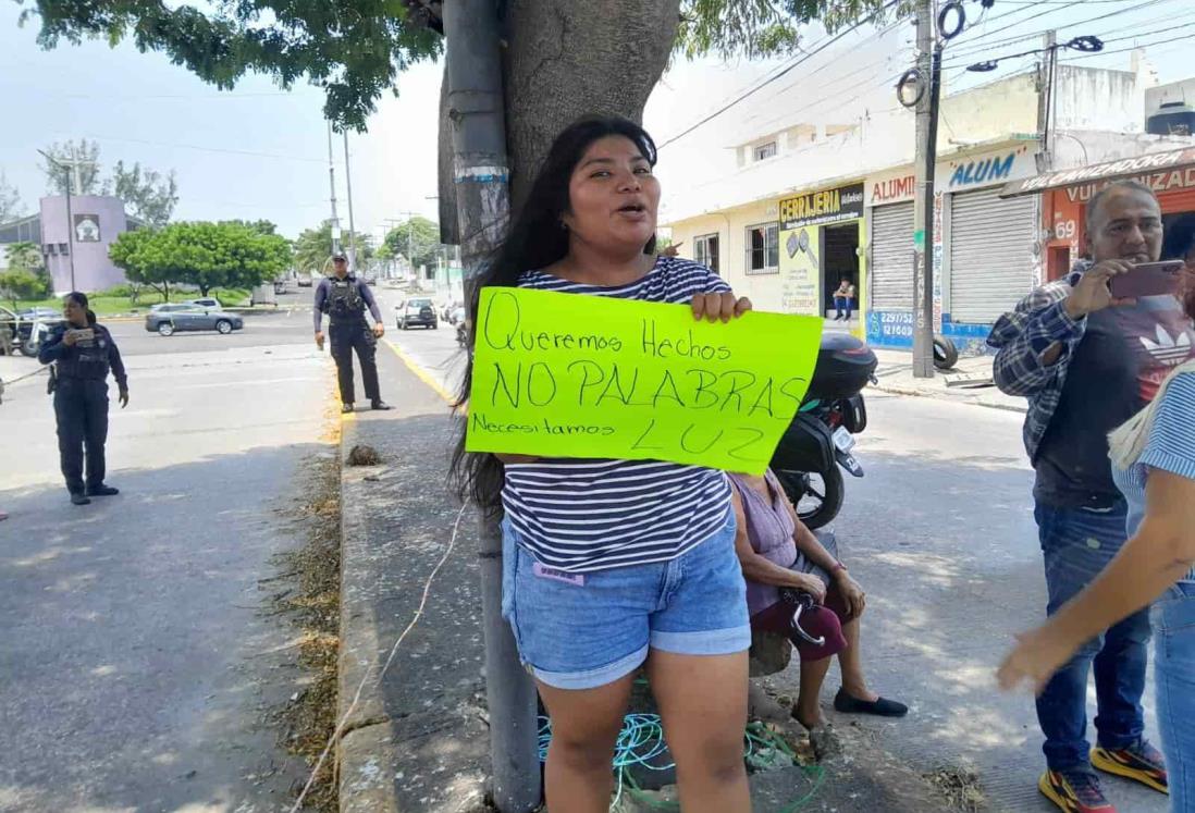
[[[381,311],[374,301],[373,292],[363,280],[349,274],[349,263],[343,253],[332,256],[332,276],[319,281],[315,288],[315,346],[324,349],[324,314],[327,313],[327,334],[332,340],[332,359],[341,385],[341,411],[351,412],[355,391],[353,386],[353,352],[361,362],[361,383],[366,398],[373,409],[390,409],[378,389],[378,363],[374,352],[378,340],[386,329],[381,324]],[[366,307],[373,316],[370,330],[366,322]]]

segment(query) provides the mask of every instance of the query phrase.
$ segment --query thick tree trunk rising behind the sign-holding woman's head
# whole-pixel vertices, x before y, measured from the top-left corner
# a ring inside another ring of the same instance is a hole
[[[641,122],[668,65],[680,0],[510,0],[504,59],[515,210],[557,134],[577,118]]]

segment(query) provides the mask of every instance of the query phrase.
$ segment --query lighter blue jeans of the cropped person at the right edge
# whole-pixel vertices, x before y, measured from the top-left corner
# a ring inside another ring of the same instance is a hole
[[[1158,728],[1170,777],[1170,809],[1195,809],[1195,585],[1171,587],[1150,610]]]

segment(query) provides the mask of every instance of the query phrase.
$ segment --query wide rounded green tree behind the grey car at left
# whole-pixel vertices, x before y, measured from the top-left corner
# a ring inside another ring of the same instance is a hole
[[[172,283],[252,288],[290,265],[290,245],[278,234],[240,222],[178,222],[161,230],[124,232],[109,257],[133,282],[164,289]]]

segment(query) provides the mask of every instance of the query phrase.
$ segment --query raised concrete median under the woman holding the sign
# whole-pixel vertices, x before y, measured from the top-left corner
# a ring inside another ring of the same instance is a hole
[[[348,714],[348,723],[338,751],[341,811],[480,813],[492,808],[471,513],[460,516],[422,616],[378,679],[418,611],[460,513],[445,482],[454,428],[447,405],[411,369],[384,365],[382,373],[384,392],[402,393],[393,398],[400,405],[355,414],[342,433],[342,459],[366,444],[381,460],[347,465],[342,475],[339,715]],[[779,721],[788,723],[783,711]],[[844,756],[823,764],[820,783],[801,769],[753,774],[755,812],[779,813],[802,796],[808,796],[802,809],[827,813],[949,809],[865,729],[844,732],[842,739]]]

